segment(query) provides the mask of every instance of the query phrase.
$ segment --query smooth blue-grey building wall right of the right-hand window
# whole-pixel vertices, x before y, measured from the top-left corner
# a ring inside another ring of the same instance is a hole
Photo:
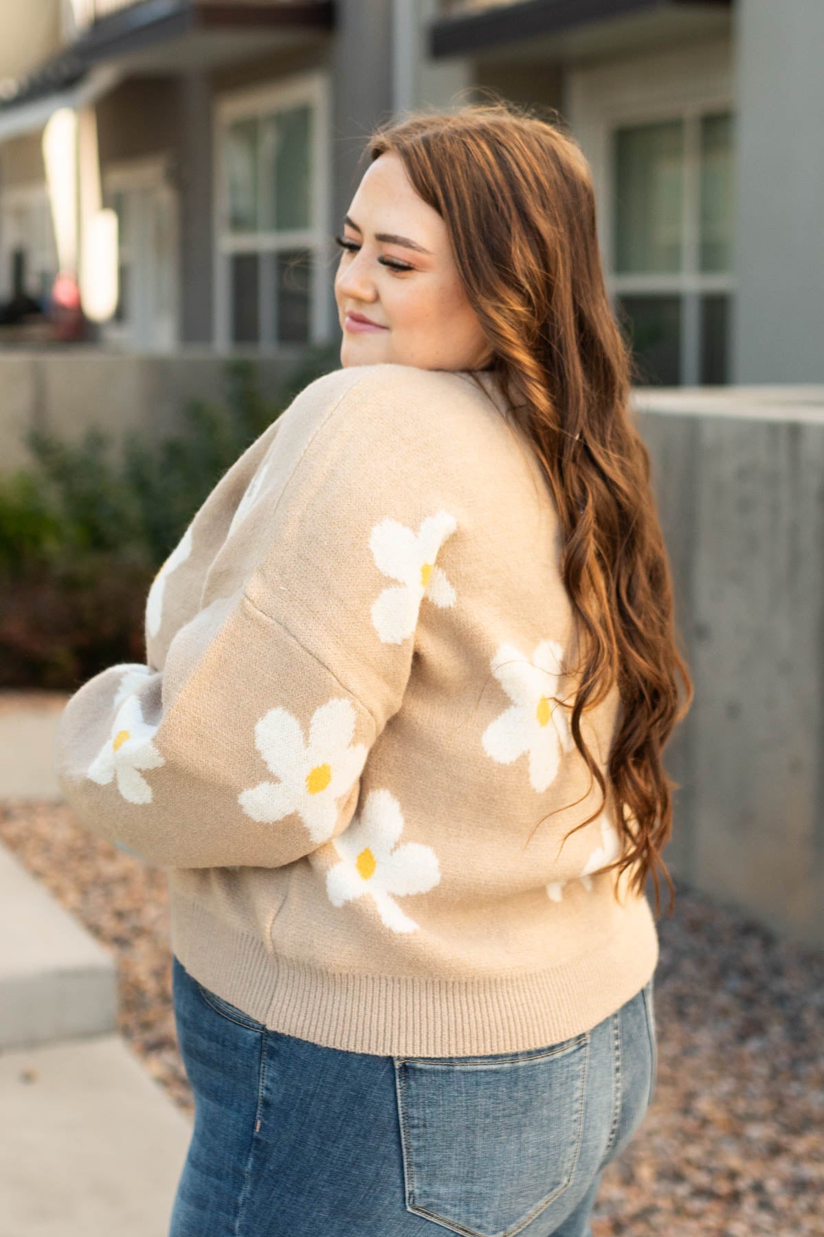
[[[824,4],[737,0],[734,381],[824,382]]]

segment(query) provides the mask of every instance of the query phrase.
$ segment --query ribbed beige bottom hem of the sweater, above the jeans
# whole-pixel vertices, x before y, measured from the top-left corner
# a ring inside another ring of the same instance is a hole
[[[268,1030],[388,1056],[474,1056],[560,1043],[590,1030],[654,972],[646,897],[627,899],[598,948],[544,971],[461,980],[333,974],[280,957],[260,938],[170,889],[171,945],[199,983]]]

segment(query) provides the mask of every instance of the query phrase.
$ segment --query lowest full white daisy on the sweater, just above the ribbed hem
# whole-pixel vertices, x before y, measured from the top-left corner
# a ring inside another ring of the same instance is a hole
[[[327,893],[334,907],[369,894],[382,922],[392,931],[414,931],[391,894],[426,893],[440,881],[438,857],[421,842],[397,845],[403,815],[388,790],[371,790],[363,811],[333,840],[341,856],[327,873]]]

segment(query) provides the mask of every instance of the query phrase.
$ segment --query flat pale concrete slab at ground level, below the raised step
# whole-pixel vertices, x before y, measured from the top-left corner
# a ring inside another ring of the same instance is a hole
[[[168,1232],[189,1118],[118,1037],[0,1053],[0,1237]]]

